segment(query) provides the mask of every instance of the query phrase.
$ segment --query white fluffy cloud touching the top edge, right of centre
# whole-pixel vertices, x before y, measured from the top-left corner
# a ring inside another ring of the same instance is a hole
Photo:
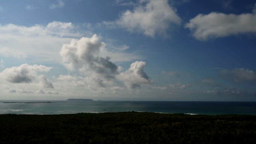
[[[118,20],[105,24],[116,24],[130,32],[154,37],[156,34],[166,34],[171,25],[179,25],[180,21],[176,9],[168,4],[168,0],[140,0],[133,10],[126,10]]]

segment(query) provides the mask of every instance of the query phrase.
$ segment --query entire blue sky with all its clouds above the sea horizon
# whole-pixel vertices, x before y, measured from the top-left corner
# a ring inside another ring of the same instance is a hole
[[[255,0],[0,1],[0,100],[256,101]]]

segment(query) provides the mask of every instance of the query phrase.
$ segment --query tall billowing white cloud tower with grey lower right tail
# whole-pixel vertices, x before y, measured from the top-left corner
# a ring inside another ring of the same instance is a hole
[[[100,48],[104,46],[94,34],[91,38],[82,37],[80,40],[73,39],[70,44],[64,44],[60,56],[68,70],[78,69],[82,73],[95,74],[106,79],[114,78],[118,74],[116,64],[111,62],[108,56],[98,56]]]

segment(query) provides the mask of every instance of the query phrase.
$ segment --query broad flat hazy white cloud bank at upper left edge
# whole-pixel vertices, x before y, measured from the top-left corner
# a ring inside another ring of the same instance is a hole
[[[4,57],[60,61],[58,54],[62,44],[82,34],[72,23],[50,22],[46,26],[0,25],[0,55]]]

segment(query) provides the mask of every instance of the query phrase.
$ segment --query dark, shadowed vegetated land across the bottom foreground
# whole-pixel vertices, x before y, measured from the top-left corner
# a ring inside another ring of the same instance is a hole
[[[0,143],[255,144],[256,116],[147,112],[0,115]]]

